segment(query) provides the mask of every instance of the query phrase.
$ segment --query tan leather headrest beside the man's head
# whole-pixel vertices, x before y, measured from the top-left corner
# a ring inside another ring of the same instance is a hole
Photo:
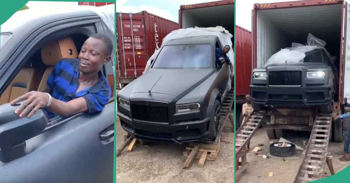
[[[51,41],[41,48],[41,59],[45,65],[55,66],[63,58],[78,58],[78,51],[70,37]]]

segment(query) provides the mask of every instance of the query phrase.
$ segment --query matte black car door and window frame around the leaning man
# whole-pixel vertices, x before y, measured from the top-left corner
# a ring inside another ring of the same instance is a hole
[[[11,73],[20,69],[21,62],[35,43],[59,29],[76,26],[92,30],[93,33],[104,33],[103,24],[98,16],[68,18],[38,28],[40,32],[33,32],[22,43],[30,41],[32,44],[14,48],[17,50],[7,60],[8,67],[5,64],[5,67],[0,69],[0,87],[7,86],[8,81],[13,78]],[[104,74],[113,73],[112,67],[109,67],[103,68]],[[0,180],[112,182],[114,112],[114,102],[111,101],[97,114],[80,113],[67,119],[57,117],[49,120],[48,127],[41,134],[25,141],[26,155],[8,163],[0,162]]]

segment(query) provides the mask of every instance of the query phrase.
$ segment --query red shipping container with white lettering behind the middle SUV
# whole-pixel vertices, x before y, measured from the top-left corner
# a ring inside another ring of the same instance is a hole
[[[142,11],[117,13],[117,84],[128,84],[142,75],[147,60],[163,38],[179,24]]]

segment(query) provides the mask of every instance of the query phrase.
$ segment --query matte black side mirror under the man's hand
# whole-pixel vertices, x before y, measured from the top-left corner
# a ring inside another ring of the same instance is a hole
[[[0,106],[0,161],[10,162],[26,155],[26,140],[47,127],[47,117],[42,109],[28,117],[19,117],[14,111],[19,105]]]

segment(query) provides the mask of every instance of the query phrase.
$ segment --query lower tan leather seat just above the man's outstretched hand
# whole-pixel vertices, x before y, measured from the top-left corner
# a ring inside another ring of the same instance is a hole
[[[35,69],[23,67],[0,96],[0,105],[6,104],[29,91],[36,90]]]

